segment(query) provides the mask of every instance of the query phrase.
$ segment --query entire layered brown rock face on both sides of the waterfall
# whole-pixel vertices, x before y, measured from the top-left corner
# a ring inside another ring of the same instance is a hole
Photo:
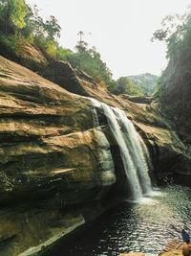
[[[157,101],[130,102],[69,65],[57,65],[60,75],[53,81],[58,78],[60,86],[0,57],[1,256],[36,255],[96,218],[123,185],[120,153],[106,120],[99,113],[96,129],[90,99],[65,86],[123,109],[148,145],[156,172],[180,170],[178,163],[190,171],[189,152]]]

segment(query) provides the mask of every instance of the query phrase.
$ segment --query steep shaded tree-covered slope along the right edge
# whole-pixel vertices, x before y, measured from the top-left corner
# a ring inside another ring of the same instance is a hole
[[[167,44],[166,69],[159,78],[159,98],[180,136],[191,144],[191,12],[167,16],[154,38]]]

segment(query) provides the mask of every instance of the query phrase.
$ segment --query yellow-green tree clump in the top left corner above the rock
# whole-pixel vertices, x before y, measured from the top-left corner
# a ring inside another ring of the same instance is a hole
[[[28,7],[24,0],[0,0],[0,44],[3,49],[19,56],[23,43],[39,47],[49,59],[61,59],[64,49],[55,37],[60,36],[60,26],[54,16],[45,22],[36,6]]]

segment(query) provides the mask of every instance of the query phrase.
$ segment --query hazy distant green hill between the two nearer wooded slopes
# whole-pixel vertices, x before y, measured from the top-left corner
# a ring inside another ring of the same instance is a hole
[[[137,84],[138,88],[145,96],[150,96],[156,91],[156,81],[158,76],[145,73],[136,76],[129,76],[128,79]]]

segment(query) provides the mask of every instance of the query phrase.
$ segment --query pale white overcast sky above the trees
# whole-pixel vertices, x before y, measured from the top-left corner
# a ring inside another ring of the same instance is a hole
[[[74,51],[79,31],[96,46],[114,79],[142,73],[158,75],[165,68],[164,42],[151,42],[167,14],[184,13],[191,0],[26,0],[44,17],[55,16],[58,40]]]

